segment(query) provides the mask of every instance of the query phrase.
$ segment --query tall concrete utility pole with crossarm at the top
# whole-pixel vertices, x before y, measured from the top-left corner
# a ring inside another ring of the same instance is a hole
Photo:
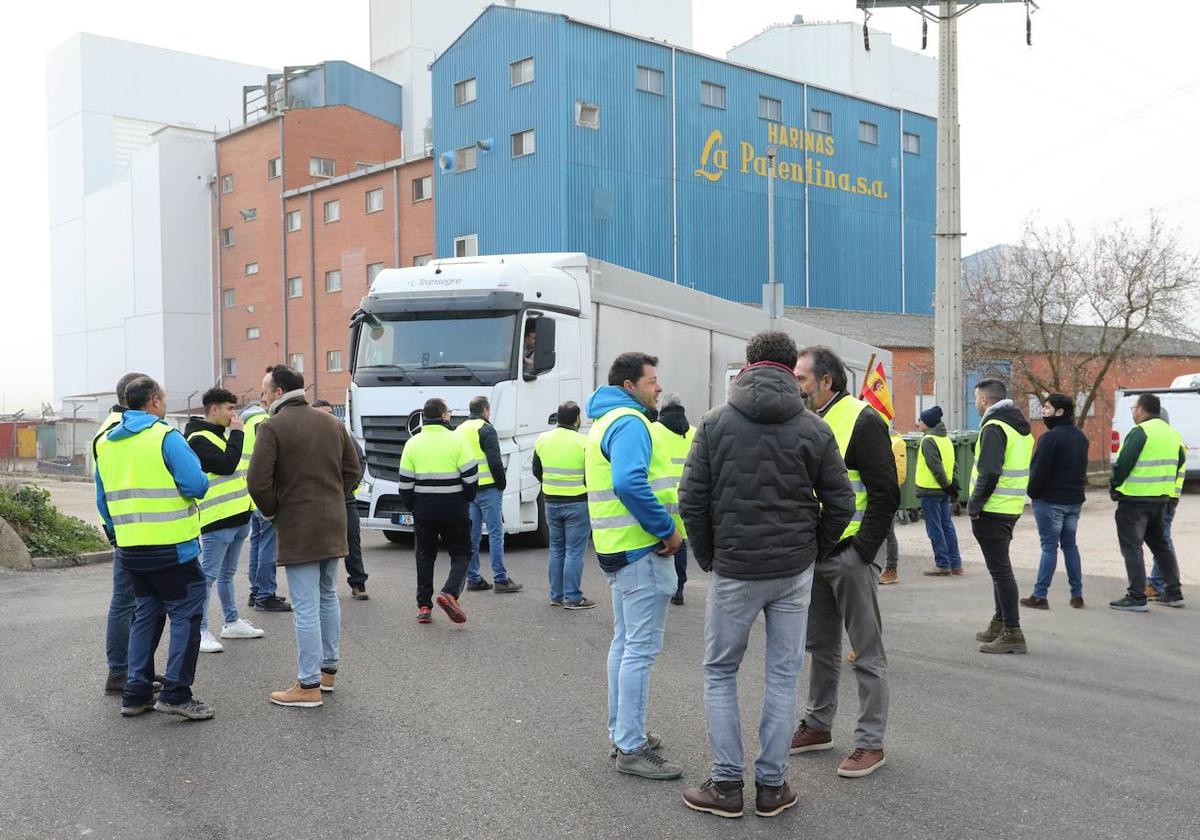
[[[1025,5],[1026,42],[1030,42],[1032,0],[857,0],[864,12],[863,40],[870,49],[866,22],[875,8],[911,8],[925,24],[938,24],[937,49],[937,222],[934,228],[934,400],[942,407],[946,426],[961,430],[966,420],[962,380],[962,196],[959,170],[959,17],[977,6],[998,2]],[[932,12],[926,6],[936,6]],[[923,24],[924,25],[924,24]],[[924,36],[924,32],[923,32]],[[922,40],[924,47],[924,37]]]

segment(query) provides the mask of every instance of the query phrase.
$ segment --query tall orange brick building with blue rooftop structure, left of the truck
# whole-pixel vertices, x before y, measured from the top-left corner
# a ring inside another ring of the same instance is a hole
[[[310,398],[343,403],[374,275],[433,254],[433,161],[403,160],[400,95],[344,62],[284,68],[217,138],[216,372],[240,397],[287,362]]]

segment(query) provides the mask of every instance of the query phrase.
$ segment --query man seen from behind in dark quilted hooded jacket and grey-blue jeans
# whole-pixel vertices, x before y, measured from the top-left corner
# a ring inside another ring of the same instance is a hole
[[[728,404],[701,420],[679,487],[696,563],[712,572],[704,714],[713,769],[708,781],[684,791],[684,804],[720,816],[740,816],[743,809],[737,676],[758,613],[767,622],[767,700],[755,812],[774,816],[796,804],[787,754],[812,570],[854,514],[834,436],[804,408],[792,373],[797,355],[785,332],[750,340],[749,365],[731,384]]]

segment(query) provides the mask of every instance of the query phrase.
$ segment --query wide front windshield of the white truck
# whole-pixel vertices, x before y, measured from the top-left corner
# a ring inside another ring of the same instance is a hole
[[[394,312],[367,316],[359,328],[355,379],[379,384],[511,377],[515,312]],[[373,384],[360,382],[360,384]]]

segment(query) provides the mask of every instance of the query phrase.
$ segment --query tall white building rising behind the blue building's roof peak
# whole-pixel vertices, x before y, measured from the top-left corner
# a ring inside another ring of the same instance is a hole
[[[487,0],[371,0],[371,72],[404,89],[406,156],[425,154],[432,143],[430,65],[490,5]],[[691,0],[504,0],[504,5],[691,47]]]

